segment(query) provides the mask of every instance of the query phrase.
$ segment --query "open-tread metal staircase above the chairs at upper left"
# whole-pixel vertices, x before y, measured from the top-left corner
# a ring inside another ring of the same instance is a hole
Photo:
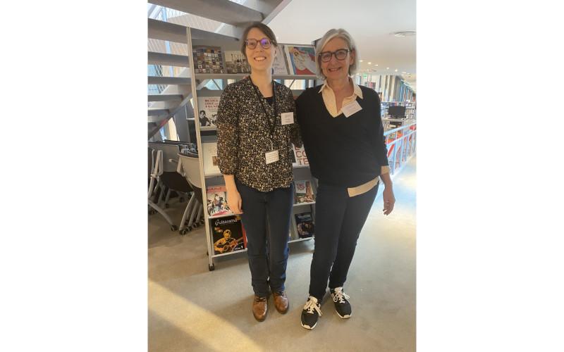
[[[269,23],[290,1],[150,1],[147,19],[149,38],[147,64],[154,66],[152,70],[149,68],[153,74],[147,77],[149,140],[171,118],[177,122],[178,128],[187,127],[186,119],[193,118],[190,104],[191,84],[203,87],[209,82],[209,80],[192,82],[188,70],[190,52],[187,27],[191,27],[192,37],[195,39],[212,39],[221,35],[231,40],[239,40],[249,23],[255,21]],[[214,32],[210,32],[212,28],[215,28]],[[158,42],[158,45],[152,46],[152,40]],[[176,139],[176,136],[171,139]]]

